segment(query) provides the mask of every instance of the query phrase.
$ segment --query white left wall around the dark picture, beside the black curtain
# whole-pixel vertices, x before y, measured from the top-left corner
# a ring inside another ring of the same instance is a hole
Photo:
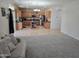
[[[12,4],[13,0],[0,0],[0,36],[9,33],[9,25],[8,25],[8,18],[7,16],[2,17],[1,15],[1,7],[5,8],[6,10],[9,7],[9,4]]]

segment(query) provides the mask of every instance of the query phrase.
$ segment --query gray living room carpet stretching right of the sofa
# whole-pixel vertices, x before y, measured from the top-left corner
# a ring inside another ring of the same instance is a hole
[[[79,40],[60,32],[20,37],[26,40],[27,58],[77,58]]]

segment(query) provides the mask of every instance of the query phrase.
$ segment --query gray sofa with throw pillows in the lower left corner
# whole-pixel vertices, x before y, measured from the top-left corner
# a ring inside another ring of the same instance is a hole
[[[26,53],[26,42],[22,39],[18,42],[13,34],[5,37],[0,40],[0,57],[24,58]]]

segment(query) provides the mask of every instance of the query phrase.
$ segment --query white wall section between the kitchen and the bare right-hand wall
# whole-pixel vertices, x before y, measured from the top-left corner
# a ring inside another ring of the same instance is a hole
[[[51,29],[53,31],[61,29],[61,7],[52,8]]]

